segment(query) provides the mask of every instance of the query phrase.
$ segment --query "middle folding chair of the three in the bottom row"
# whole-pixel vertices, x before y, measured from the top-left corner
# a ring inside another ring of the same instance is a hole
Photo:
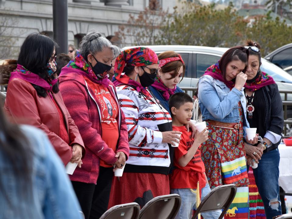
[[[181,203],[182,199],[178,194],[157,196],[144,205],[139,219],[173,219]]]

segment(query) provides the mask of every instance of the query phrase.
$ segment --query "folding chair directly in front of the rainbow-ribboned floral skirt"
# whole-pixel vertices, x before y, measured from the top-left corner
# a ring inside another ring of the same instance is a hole
[[[222,219],[232,203],[236,195],[236,191],[237,188],[234,184],[217,186],[212,189],[211,192],[202,200],[192,219],[195,219],[198,214],[203,212],[223,209],[219,217],[219,219]]]

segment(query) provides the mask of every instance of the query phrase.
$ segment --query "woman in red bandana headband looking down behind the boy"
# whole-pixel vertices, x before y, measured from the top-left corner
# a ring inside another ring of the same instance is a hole
[[[177,84],[185,74],[186,65],[180,54],[174,51],[163,52],[158,55],[158,59],[158,75],[149,89],[159,103],[169,111],[169,97],[174,93],[183,92]]]

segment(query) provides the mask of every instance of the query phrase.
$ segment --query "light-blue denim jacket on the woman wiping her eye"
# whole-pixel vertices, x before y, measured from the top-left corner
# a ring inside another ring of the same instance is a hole
[[[204,75],[199,80],[199,106],[202,112],[202,120],[215,120],[225,123],[239,123],[238,102],[240,101],[243,112],[243,127],[249,127],[246,119],[246,99],[242,88],[231,90],[210,75]],[[245,131],[244,131],[245,135]]]

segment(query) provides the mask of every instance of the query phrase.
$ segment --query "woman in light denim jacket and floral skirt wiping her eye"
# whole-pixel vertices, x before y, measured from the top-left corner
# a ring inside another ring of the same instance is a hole
[[[199,80],[199,105],[209,130],[209,139],[201,148],[202,160],[210,187],[231,183],[238,187],[225,218],[248,218],[249,214],[243,130],[249,127],[243,92],[247,64],[248,50],[233,47]]]

